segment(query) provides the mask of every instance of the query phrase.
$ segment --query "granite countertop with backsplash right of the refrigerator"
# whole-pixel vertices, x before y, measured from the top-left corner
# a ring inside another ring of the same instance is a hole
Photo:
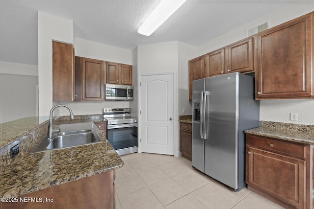
[[[244,131],[262,137],[270,137],[304,144],[314,144],[314,126],[262,121],[262,126]]]

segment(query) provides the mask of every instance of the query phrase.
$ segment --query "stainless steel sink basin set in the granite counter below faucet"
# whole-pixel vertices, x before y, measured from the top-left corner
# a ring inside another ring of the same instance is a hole
[[[78,130],[61,132],[47,137],[35,146],[29,153],[38,153],[56,149],[64,149],[102,142],[101,137],[94,130]]]

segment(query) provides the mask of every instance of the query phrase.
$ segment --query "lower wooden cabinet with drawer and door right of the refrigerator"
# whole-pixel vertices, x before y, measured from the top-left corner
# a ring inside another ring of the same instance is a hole
[[[311,145],[247,134],[248,189],[284,208],[312,208],[311,149]]]

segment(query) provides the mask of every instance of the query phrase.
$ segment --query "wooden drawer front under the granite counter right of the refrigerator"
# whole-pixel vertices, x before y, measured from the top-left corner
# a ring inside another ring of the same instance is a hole
[[[247,135],[247,145],[286,154],[292,157],[305,158],[305,146],[288,141]]]

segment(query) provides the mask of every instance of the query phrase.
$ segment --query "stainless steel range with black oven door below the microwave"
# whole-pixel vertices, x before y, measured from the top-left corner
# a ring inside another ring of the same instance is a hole
[[[130,108],[104,108],[107,120],[107,140],[118,155],[137,152],[137,118]]]

